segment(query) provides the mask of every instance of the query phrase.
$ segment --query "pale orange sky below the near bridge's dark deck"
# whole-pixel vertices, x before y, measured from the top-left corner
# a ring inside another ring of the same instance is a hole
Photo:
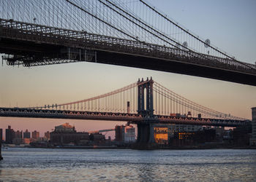
[[[138,68],[74,63],[34,68],[0,67],[0,107],[44,106],[82,100],[124,87],[142,76],[153,76],[156,82],[173,92],[233,116],[251,119],[250,108],[256,106],[256,87],[244,84]],[[15,130],[39,130],[42,136],[43,132],[64,122],[75,124],[78,131],[108,129],[117,124],[108,121],[0,117],[0,128],[5,129],[10,124]],[[110,135],[113,137],[113,133]]]

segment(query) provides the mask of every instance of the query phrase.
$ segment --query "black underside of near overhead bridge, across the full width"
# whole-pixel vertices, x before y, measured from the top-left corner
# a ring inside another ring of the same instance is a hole
[[[97,58],[94,54],[89,58],[85,55],[68,55],[67,47],[53,44],[41,44],[31,41],[17,41],[13,39],[1,39],[1,53],[12,55],[23,55],[25,58],[23,64],[33,66],[33,64],[44,65],[40,61],[51,61],[54,63],[73,63],[80,61],[92,61],[97,63],[105,63],[117,66],[129,66],[134,68],[145,68],[156,71],[166,71],[176,74],[187,74],[190,76],[200,76],[209,79],[219,79],[227,82],[236,82],[239,84],[249,84],[256,86],[256,76],[252,74],[244,74],[226,69],[213,68],[208,66],[199,66],[196,64],[184,63],[176,60],[165,60],[150,58],[140,55],[130,55],[120,52],[106,52],[102,50],[94,50],[97,53]],[[63,50],[66,50],[65,52]],[[84,51],[84,50],[83,50]],[[79,50],[77,51],[79,52]],[[28,59],[26,59],[26,57]],[[31,59],[32,58],[32,59]],[[17,60],[17,59],[15,59]],[[65,60],[59,62],[59,60]],[[10,64],[11,59],[9,60]]]

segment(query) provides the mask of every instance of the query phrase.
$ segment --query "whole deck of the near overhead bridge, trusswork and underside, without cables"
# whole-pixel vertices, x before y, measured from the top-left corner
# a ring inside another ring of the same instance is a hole
[[[256,66],[249,63],[15,20],[0,19],[0,53],[15,55],[5,58],[9,65],[93,61],[256,86]]]

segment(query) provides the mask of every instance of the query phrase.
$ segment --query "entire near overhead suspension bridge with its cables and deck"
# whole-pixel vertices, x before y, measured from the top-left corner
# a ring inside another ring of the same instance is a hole
[[[89,61],[256,85],[256,65],[200,38],[142,0],[2,0],[7,65]]]

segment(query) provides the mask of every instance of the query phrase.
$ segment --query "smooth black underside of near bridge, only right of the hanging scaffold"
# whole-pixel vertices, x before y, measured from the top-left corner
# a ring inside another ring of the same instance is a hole
[[[135,68],[146,68],[156,71],[166,71],[176,74],[187,74],[190,76],[200,76],[209,79],[219,79],[227,82],[239,84],[249,84],[256,86],[256,76],[242,74],[225,69],[198,66],[195,64],[181,63],[176,60],[162,60],[157,58],[147,58],[138,55],[124,55],[116,52],[97,52],[97,63],[107,63],[118,66],[129,66]]]

